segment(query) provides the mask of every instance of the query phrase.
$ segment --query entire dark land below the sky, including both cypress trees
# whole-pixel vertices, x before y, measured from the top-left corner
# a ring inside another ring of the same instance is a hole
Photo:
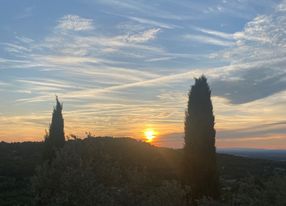
[[[90,135],[65,141],[62,110],[56,98],[43,143],[0,144],[0,205],[286,205],[286,163],[216,154],[204,76],[189,92],[183,149]]]

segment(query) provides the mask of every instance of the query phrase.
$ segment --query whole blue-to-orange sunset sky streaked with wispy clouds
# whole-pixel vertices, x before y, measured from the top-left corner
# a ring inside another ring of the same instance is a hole
[[[58,95],[66,135],[181,147],[205,74],[218,147],[286,149],[286,1],[3,0],[0,45],[0,141],[41,141]]]

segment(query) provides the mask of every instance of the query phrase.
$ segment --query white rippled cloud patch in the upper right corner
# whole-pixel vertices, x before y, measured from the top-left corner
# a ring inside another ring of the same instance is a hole
[[[281,2],[276,8],[285,6]],[[225,52],[225,57],[232,61],[269,61],[283,58],[286,47],[285,11],[277,11],[270,15],[258,15],[248,22],[241,32],[234,33],[236,47]]]

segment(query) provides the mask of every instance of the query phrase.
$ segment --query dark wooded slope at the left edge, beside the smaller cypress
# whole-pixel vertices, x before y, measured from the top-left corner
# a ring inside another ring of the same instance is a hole
[[[41,164],[43,143],[0,143],[0,205],[31,205],[30,178]]]

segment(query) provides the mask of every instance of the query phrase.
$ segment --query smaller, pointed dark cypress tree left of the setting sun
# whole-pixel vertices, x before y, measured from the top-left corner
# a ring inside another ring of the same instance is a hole
[[[56,106],[54,107],[49,133],[45,136],[44,160],[51,160],[55,156],[56,150],[64,146],[65,134],[62,109],[63,105],[56,97]]]

